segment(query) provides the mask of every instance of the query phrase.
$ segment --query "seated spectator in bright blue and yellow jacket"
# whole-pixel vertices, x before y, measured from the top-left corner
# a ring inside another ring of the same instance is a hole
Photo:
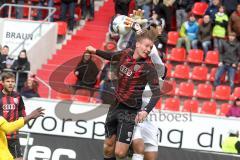
[[[192,48],[196,49],[197,47],[197,33],[199,30],[198,23],[194,14],[189,14],[188,21],[182,24],[180,30],[180,38],[178,39],[177,47],[180,48],[183,43],[185,43],[187,52],[190,51],[191,45]]]

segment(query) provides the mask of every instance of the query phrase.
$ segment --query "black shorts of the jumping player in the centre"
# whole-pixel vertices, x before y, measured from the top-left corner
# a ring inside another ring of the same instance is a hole
[[[135,117],[138,110],[129,108],[119,103],[111,107],[105,123],[105,135],[107,138],[117,136],[117,141],[130,144],[135,127]]]

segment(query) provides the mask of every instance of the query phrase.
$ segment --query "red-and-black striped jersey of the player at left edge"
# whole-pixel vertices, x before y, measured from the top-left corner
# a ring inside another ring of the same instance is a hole
[[[5,95],[0,92],[0,116],[3,116],[8,122],[17,120],[19,117],[25,117],[25,106],[22,97],[17,92]],[[18,132],[7,135],[7,139],[18,139]]]

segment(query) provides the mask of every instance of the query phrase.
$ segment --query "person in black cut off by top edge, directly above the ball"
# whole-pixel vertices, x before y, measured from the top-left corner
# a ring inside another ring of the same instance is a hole
[[[115,14],[128,15],[131,0],[115,0]]]

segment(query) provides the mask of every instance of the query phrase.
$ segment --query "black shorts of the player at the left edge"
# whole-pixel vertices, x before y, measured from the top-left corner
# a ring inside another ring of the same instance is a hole
[[[8,149],[14,158],[23,157],[19,139],[8,140]]]

